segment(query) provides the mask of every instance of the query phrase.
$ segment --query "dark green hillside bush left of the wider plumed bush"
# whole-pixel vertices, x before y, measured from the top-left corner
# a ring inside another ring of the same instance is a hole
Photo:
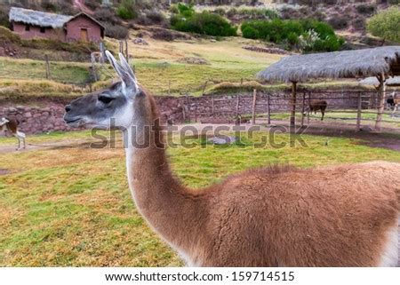
[[[181,6],[187,7],[183,4]],[[181,6],[178,5],[178,7]],[[236,36],[236,27],[219,14],[212,12],[197,13],[186,8],[180,8],[180,14],[171,17],[171,26],[181,32],[209,36]]]

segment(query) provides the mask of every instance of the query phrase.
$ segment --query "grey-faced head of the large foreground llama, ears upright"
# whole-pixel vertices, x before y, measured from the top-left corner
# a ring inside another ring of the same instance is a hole
[[[135,109],[145,93],[140,90],[132,68],[119,54],[118,62],[106,51],[109,62],[120,81],[107,89],[73,100],[65,107],[64,121],[71,127],[127,129],[137,122]]]

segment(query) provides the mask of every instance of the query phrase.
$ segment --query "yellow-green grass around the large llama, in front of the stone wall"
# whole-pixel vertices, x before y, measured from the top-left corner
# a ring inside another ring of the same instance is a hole
[[[274,162],[299,167],[388,160],[400,153],[355,139],[304,136],[308,147],[254,148],[243,144],[169,149],[172,168],[188,186],[207,186],[230,173]],[[28,137],[28,143],[76,143],[89,132]],[[276,143],[288,142],[287,135]],[[0,147],[13,145],[0,139]],[[135,209],[125,178],[124,151],[75,148],[0,154],[0,266],[183,265]],[[368,154],[368,155],[365,155]],[[196,190],[195,190],[196,191]]]

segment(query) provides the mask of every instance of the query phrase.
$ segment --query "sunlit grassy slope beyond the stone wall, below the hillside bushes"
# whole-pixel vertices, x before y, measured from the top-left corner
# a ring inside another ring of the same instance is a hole
[[[132,38],[135,35],[132,34]],[[281,59],[281,55],[247,51],[242,46],[259,44],[240,37],[225,38],[218,42],[209,39],[165,42],[145,37],[148,45],[133,44],[128,41],[129,51],[140,83],[157,95],[194,94],[207,92],[282,89],[287,85],[261,86],[254,82],[256,74],[270,64]],[[116,41],[108,39],[108,45]],[[204,59],[207,64],[189,64],[188,58]],[[9,59],[0,57],[0,95],[42,96],[75,95],[86,92],[78,86],[90,81],[89,63],[51,62],[51,78],[45,78],[44,61],[32,59]],[[94,88],[108,85],[115,73],[108,65],[100,69],[100,82]],[[240,86],[244,80],[244,87]],[[343,84],[354,87],[355,83],[328,82],[308,84],[317,88],[341,87]]]

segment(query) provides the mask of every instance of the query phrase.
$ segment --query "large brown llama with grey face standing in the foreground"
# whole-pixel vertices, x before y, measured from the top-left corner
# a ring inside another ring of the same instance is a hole
[[[155,99],[122,54],[107,56],[121,82],[73,100],[64,120],[123,131],[132,198],[188,265],[397,264],[400,163],[275,166],[190,189],[170,169]]]

